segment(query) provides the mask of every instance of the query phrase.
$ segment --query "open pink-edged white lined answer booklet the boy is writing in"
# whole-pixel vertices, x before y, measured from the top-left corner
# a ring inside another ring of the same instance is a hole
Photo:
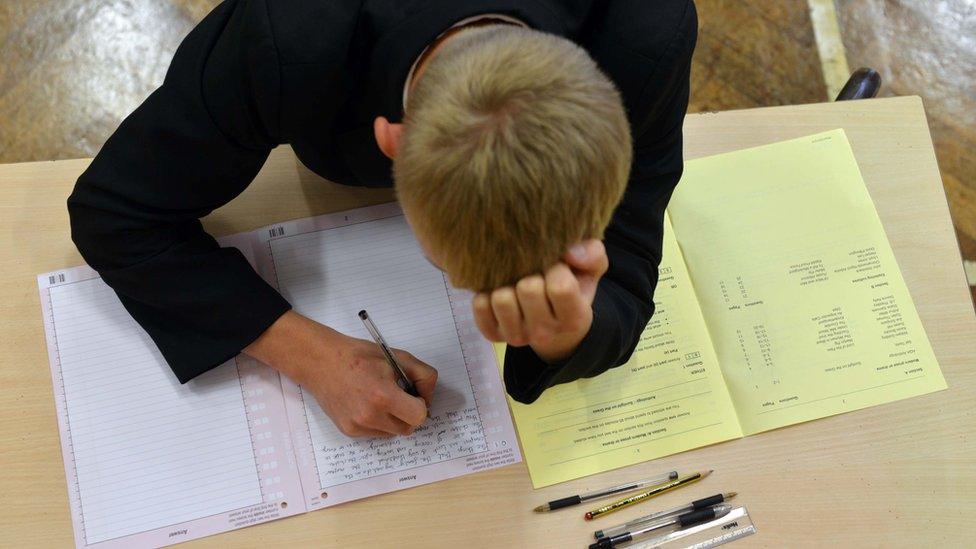
[[[409,437],[343,435],[315,399],[243,355],[180,385],[88,267],[38,277],[79,547],[178,543],[521,460],[470,295],[423,257],[396,204],[221,239],[296,311],[438,369]],[[246,299],[246,296],[242,296]]]

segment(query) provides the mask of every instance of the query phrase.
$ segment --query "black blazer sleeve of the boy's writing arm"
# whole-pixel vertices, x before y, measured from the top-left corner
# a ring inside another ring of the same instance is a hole
[[[122,122],[68,198],[71,236],[183,383],[234,357],[289,304],[199,218],[277,144],[279,70],[264,0],[218,6],[163,85]]]

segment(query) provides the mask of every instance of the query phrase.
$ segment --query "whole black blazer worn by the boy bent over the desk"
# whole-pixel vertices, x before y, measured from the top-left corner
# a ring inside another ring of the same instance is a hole
[[[122,122],[68,199],[78,249],[180,381],[236,355],[289,308],[199,218],[243,191],[282,143],[332,181],[391,186],[374,117],[400,120],[417,56],[455,22],[483,13],[583,46],[620,89],[634,136],[593,327],[562,364],[510,348],[508,392],[531,402],[630,357],[654,310],[664,209],[681,176],[692,0],[227,0],[186,37],[163,85]]]

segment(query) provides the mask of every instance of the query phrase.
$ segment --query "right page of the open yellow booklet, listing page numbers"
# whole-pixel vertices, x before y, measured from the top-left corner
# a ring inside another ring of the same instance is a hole
[[[688,162],[669,211],[744,433],[946,388],[843,130]]]

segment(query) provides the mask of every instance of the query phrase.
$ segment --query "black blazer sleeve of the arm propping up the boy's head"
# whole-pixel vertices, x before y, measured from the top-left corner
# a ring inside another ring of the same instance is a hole
[[[543,362],[530,347],[509,346],[508,393],[534,402],[548,387],[593,377],[630,359],[654,312],[664,211],[682,173],[682,123],[688,108],[691,56],[698,19],[693,2],[641,93],[640,119],[631,120],[634,164],[623,200],[604,235],[610,260],[593,301],[593,324],[572,356]]]

